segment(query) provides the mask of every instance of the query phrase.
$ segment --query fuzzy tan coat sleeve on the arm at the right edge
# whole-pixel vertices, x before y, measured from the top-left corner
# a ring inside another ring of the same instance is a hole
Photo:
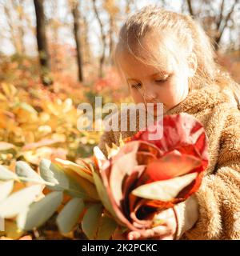
[[[240,112],[222,130],[218,166],[196,193],[198,221],[189,239],[240,239]]]

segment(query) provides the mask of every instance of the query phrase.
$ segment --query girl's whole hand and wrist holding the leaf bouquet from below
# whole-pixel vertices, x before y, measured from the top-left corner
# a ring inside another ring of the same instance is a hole
[[[116,232],[113,239],[137,240],[151,238],[156,240],[174,240],[177,231],[177,220],[174,210],[172,208],[163,210],[156,217],[163,220],[165,223],[146,230],[144,235],[140,234],[138,231],[129,231],[126,234],[118,234],[118,232]]]

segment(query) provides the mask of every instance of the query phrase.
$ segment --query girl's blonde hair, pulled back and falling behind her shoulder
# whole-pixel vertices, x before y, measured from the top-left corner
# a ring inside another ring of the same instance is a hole
[[[159,66],[156,54],[142,47],[141,41],[149,32],[156,31],[159,35],[169,34],[175,45],[183,46],[181,50],[174,48],[167,43],[161,51],[168,51],[174,58],[182,61],[182,54],[186,58],[194,54],[197,60],[197,70],[193,78],[190,78],[190,90],[199,89],[202,86],[217,84],[221,88],[230,86],[234,93],[240,97],[238,84],[230,77],[230,74],[223,70],[215,60],[213,43],[206,35],[202,26],[194,21],[189,15],[178,14],[170,10],[164,10],[159,6],[146,6],[133,14],[126,20],[119,33],[119,41],[114,51],[114,62],[121,69],[118,63],[118,54],[122,50],[128,50],[139,61],[155,67]],[[170,33],[169,33],[170,32]],[[163,40],[162,40],[163,41]],[[163,42],[164,43],[164,42]],[[145,53],[147,57],[144,57]],[[150,57],[150,58],[149,58]]]

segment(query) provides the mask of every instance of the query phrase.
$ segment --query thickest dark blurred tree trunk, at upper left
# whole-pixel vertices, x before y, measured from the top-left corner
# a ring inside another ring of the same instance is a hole
[[[44,86],[50,86],[53,83],[50,77],[50,56],[46,42],[45,17],[42,0],[34,0],[36,13],[36,30],[38,42],[38,56],[41,66],[41,78]]]

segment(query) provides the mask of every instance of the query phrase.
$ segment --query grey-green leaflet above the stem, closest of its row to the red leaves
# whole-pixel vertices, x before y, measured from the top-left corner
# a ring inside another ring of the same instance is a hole
[[[40,174],[46,182],[52,183],[54,186],[47,186],[50,190],[66,191],[67,194],[76,198],[88,198],[85,190],[79,186],[78,182],[68,176],[64,170],[58,165],[43,159],[40,162]]]

